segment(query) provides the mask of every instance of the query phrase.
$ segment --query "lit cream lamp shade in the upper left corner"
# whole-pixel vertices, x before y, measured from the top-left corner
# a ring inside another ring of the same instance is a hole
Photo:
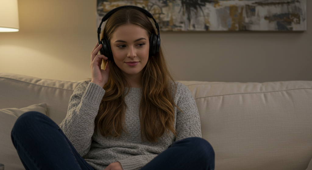
[[[17,0],[0,0],[0,32],[17,32],[18,30]]]

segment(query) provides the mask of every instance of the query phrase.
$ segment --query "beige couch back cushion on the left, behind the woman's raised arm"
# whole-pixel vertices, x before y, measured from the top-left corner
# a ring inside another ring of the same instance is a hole
[[[47,116],[59,125],[66,116],[74,89],[82,81],[50,80],[0,73],[0,109],[47,103]]]

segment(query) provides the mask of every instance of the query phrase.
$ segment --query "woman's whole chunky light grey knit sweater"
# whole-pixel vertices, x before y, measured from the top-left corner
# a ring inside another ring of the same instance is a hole
[[[174,141],[188,137],[202,137],[200,120],[195,100],[185,85],[177,84],[177,92],[172,97],[176,105],[184,114],[174,107],[175,130],[177,137],[170,131],[158,138],[158,142],[141,140],[139,120],[139,105],[142,88],[130,88],[125,97],[126,113],[125,124],[128,133],[122,131],[117,138],[104,137],[94,133],[95,116],[98,113],[100,102],[105,90],[91,80],[80,83],[74,90],[68,107],[66,118],[59,125],[64,134],[71,141],[78,153],[95,170],[104,170],[110,163],[120,162],[124,170],[142,168],[145,164],[163,152]],[[173,84],[173,82],[172,82]],[[125,88],[125,93],[128,87]]]

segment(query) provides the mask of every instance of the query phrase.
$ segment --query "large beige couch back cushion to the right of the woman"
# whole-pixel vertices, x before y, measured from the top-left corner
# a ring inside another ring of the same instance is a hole
[[[179,81],[195,98],[216,170],[305,170],[312,158],[312,81]]]

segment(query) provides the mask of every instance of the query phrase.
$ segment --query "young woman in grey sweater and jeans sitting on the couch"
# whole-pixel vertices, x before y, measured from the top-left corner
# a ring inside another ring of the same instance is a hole
[[[214,169],[194,98],[173,81],[162,49],[151,53],[152,33],[152,22],[134,7],[109,17],[101,39],[113,59],[98,54],[96,43],[92,78],[76,87],[62,123],[38,112],[17,119],[12,141],[27,170]]]

